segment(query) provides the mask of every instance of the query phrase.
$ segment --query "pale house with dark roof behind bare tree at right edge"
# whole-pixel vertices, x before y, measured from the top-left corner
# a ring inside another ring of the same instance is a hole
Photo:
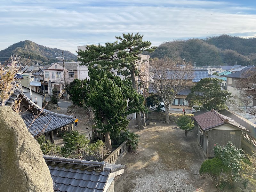
[[[235,98],[235,102],[240,106],[244,106],[243,102],[239,100],[239,90],[236,88],[236,81],[239,80],[243,74],[255,66],[246,66],[243,70],[225,75],[227,77],[227,91],[231,92]],[[248,104],[248,107],[256,106],[256,100],[253,99],[251,103]]]

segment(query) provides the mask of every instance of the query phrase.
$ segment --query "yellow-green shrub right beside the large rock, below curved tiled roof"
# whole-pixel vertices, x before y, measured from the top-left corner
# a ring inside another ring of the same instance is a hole
[[[36,138],[38,144],[44,155],[59,155],[60,154],[60,146],[56,146],[54,143],[51,143],[49,139],[45,140],[45,136],[41,135]]]

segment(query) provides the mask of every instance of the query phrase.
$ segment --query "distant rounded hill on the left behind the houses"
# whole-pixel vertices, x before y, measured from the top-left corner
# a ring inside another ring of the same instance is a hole
[[[28,58],[30,56],[31,60],[53,63],[60,61],[56,59],[55,53],[61,52],[62,50],[60,49],[45,47],[43,45],[36,44],[33,41],[25,40],[20,41],[19,43],[15,43],[10,47],[0,51],[0,57],[10,57],[11,54],[18,54],[18,56],[24,58]],[[0,59],[3,61],[2,58]],[[76,61],[76,55],[69,51],[64,51],[64,59],[68,62]],[[35,61],[31,62],[35,63]]]

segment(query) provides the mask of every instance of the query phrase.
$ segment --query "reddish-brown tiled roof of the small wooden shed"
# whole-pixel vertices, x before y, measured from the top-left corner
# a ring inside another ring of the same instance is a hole
[[[203,114],[197,115],[194,118],[204,131],[207,131],[208,129],[211,129],[213,127],[217,127],[223,124],[231,124],[240,130],[250,132],[248,129],[246,129],[244,126],[240,125],[239,123],[237,123],[232,118],[224,116],[218,113],[217,111],[215,111],[214,109],[212,109],[209,112],[205,112]]]

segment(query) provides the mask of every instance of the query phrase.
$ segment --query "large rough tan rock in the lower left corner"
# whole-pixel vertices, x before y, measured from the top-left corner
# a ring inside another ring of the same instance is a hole
[[[0,191],[53,192],[48,166],[20,115],[0,107]]]

